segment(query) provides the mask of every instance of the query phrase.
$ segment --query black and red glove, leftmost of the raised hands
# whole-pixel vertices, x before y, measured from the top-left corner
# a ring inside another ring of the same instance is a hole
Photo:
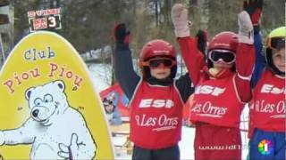
[[[124,23],[114,25],[114,40],[116,45],[130,43],[130,31],[126,29]]]

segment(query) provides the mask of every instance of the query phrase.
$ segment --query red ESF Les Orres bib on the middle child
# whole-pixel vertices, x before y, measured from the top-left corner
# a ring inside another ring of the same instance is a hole
[[[196,86],[190,120],[218,126],[239,127],[243,103],[235,88],[234,75],[202,80]]]

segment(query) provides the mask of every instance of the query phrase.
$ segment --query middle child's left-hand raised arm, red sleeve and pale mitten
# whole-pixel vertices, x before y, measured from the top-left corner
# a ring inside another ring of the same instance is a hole
[[[188,10],[182,4],[172,6],[172,24],[181,48],[181,55],[189,70],[193,84],[197,85],[206,66],[204,55],[198,50],[197,40],[189,37]]]

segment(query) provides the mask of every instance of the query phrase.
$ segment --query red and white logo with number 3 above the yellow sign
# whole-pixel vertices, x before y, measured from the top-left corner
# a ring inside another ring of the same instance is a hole
[[[54,30],[62,28],[61,8],[46,9],[27,12],[29,19],[29,31]]]

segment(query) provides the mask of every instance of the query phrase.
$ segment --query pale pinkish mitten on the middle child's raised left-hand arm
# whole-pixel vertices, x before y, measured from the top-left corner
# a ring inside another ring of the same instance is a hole
[[[177,37],[189,36],[188,10],[182,4],[174,4],[171,12],[172,24]]]

